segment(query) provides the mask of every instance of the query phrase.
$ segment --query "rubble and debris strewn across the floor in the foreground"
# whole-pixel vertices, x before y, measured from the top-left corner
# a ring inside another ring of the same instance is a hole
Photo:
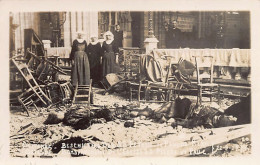
[[[104,106],[92,107],[91,110],[82,106],[69,108],[60,106],[49,109],[49,112],[45,108],[41,108],[40,112],[31,109],[31,117],[12,115],[10,123],[11,155],[14,157],[129,156],[130,151],[124,153],[122,150],[128,151],[133,148],[143,148],[143,150],[149,148],[155,155],[160,155],[163,152],[158,153],[159,151],[154,151],[153,148],[163,149],[164,147],[160,145],[165,143],[182,144],[185,142],[187,144],[184,147],[187,148],[194,141],[205,141],[210,140],[210,137],[223,136],[223,133],[214,131],[216,129],[213,129],[214,126],[205,129],[209,126],[204,125],[205,123],[187,125],[187,121],[191,118],[181,116],[183,114],[180,115],[176,111],[174,113],[173,107],[176,102],[163,105],[147,103],[140,106],[129,103],[114,94],[109,96],[113,100],[118,99],[118,103],[114,104],[104,99],[108,96],[99,95],[98,92],[96,95],[96,101]],[[186,100],[186,102],[188,101]],[[223,105],[234,103],[226,99],[226,103]],[[192,105],[192,101],[189,104]],[[207,110],[209,111],[209,109]],[[212,111],[214,110],[213,108]],[[219,114],[224,115],[223,112],[218,111]],[[178,115],[179,118],[174,115]],[[234,121],[233,118],[231,121]],[[236,152],[237,154],[250,154],[250,136],[247,133],[245,135],[243,140],[233,138],[229,143],[225,141],[226,143],[221,146],[222,149],[218,148],[207,154],[199,154],[195,151],[189,153],[184,148],[181,149],[182,154],[172,153],[172,155],[231,156]],[[176,146],[171,149],[179,150],[176,149]],[[139,154],[142,156],[145,151],[139,152]]]

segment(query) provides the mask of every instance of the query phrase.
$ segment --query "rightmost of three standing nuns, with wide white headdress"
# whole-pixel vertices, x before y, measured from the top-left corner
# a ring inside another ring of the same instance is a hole
[[[118,63],[118,57],[116,57],[116,46],[114,44],[114,35],[107,31],[104,34],[105,41],[102,45],[102,72],[103,77],[109,73],[115,73],[115,66]],[[118,56],[118,55],[117,55]]]

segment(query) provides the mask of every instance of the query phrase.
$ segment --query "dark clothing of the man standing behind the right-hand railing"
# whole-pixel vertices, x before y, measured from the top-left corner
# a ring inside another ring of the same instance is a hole
[[[175,29],[169,29],[169,31],[166,32],[166,46],[167,48],[179,48],[181,47],[181,30],[178,28]]]

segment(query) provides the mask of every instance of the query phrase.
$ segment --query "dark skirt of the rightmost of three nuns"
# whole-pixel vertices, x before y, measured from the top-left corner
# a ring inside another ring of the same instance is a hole
[[[115,73],[115,61],[115,54],[113,52],[105,52],[104,57],[102,58],[103,77],[109,73]]]

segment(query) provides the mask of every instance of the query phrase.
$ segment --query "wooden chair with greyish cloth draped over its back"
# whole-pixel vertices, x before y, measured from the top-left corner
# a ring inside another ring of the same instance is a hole
[[[168,56],[166,57],[168,58]],[[171,57],[169,56],[171,59]],[[129,100],[137,93],[138,101],[167,102],[171,100],[171,88],[168,79],[171,70],[171,60],[168,60],[166,73],[163,73],[161,65],[150,55],[142,55],[140,58],[140,76],[137,82],[129,83]],[[154,98],[156,99],[154,100]],[[143,99],[142,99],[143,98]]]

